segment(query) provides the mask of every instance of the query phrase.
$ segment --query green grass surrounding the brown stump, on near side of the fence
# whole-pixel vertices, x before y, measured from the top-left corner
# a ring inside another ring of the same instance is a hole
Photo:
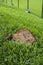
[[[30,9],[40,16],[41,0],[36,0],[37,5],[39,4],[37,10],[36,2],[34,0],[30,2],[32,4]],[[23,5],[18,9],[16,6],[0,3],[0,65],[43,65],[43,19],[36,15],[26,13]],[[7,35],[15,33],[20,28],[32,32],[36,38],[33,45],[28,46],[6,39]]]

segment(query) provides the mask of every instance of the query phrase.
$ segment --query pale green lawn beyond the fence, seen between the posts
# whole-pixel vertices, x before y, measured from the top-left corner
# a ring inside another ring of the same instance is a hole
[[[8,5],[10,4],[10,0],[8,1]],[[13,0],[13,6],[18,7],[18,1]],[[19,8],[26,10],[27,9],[27,0],[19,1]],[[29,0],[29,9],[34,13],[34,15],[41,16],[41,6],[42,0]]]

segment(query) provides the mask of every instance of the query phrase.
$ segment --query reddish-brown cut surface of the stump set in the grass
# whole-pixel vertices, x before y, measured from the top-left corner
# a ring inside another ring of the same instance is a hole
[[[29,30],[19,29],[12,35],[12,39],[19,42],[33,43],[35,41],[34,36]]]

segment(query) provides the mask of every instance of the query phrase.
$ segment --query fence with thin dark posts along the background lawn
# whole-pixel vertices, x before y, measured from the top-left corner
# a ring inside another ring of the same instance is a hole
[[[41,16],[42,0],[0,0],[23,10],[30,9],[37,16]]]

